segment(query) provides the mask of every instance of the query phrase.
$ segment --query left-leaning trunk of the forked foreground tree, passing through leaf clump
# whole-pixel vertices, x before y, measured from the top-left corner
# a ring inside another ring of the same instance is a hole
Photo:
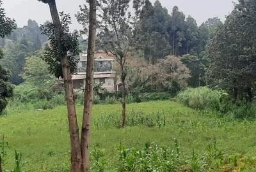
[[[55,26],[56,40],[58,41],[58,48],[61,50],[61,23],[58,15],[58,10],[56,7],[55,0],[49,3],[52,22]],[[61,68],[63,73],[65,96],[67,101],[67,111],[68,111],[68,126],[70,133],[70,145],[71,145],[71,171],[81,172],[81,147],[79,139],[79,128],[77,125],[76,117],[76,103],[74,99],[72,76],[70,72],[70,66],[68,64],[67,52],[63,52],[63,57],[61,58]]]

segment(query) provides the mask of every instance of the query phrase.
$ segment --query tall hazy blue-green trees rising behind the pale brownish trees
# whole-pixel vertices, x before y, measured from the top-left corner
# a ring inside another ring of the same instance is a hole
[[[177,6],[168,13],[159,1],[154,5],[145,1],[139,20],[135,35],[150,64],[166,55],[200,55],[216,27],[222,25],[219,18],[209,18],[198,27],[196,20],[186,17]]]

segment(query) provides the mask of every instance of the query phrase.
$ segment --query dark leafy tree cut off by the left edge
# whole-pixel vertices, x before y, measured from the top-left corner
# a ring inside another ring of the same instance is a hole
[[[4,36],[10,34],[15,29],[15,25],[14,20],[6,17],[5,11],[1,6],[2,1],[0,1],[0,36],[4,38]],[[3,59],[3,56],[3,50],[0,48],[0,59]],[[10,75],[6,69],[0,66],[0,113],[3,112],[7,105],[6,98],[11,97],[12,93],[13,87],[10,83]]]

